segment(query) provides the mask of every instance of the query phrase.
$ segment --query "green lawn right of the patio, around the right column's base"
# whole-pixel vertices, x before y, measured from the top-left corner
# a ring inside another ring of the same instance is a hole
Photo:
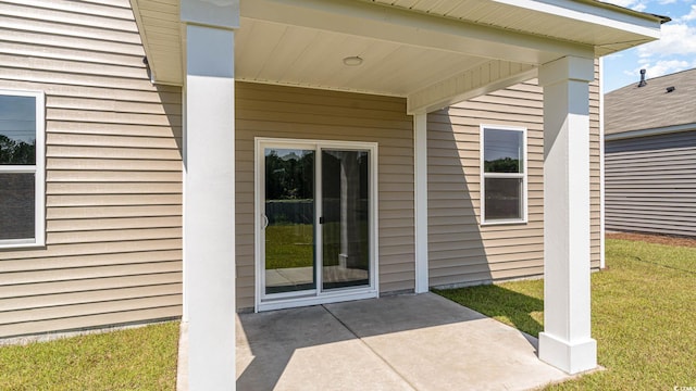
[[[549,390],[696,388],[696,249],[607,240],[607,269],[592,276],[592,327],[607,370]],[[538,336],[544,282],[437,293]]]

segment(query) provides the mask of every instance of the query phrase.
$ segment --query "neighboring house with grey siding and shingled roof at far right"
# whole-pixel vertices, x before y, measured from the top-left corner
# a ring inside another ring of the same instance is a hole
[[[696,235],[694,97],[696,70],[606,94],[607,229]]]

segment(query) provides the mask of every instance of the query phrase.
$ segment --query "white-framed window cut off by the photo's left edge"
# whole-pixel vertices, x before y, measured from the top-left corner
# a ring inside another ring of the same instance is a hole
[[[0,90],[0,248],[42,245],[44,93]]]

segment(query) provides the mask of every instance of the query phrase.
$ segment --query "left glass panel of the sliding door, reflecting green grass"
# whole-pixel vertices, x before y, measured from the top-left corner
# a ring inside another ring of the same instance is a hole
[[[314,151],[265,148],[265,293],[316,289]]]

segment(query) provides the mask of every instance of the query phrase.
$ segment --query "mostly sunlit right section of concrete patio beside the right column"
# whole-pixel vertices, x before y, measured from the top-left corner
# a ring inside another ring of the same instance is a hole
[[[417,390],[526,390],[569,376],[536,339],[433,293],[326,305]]]

